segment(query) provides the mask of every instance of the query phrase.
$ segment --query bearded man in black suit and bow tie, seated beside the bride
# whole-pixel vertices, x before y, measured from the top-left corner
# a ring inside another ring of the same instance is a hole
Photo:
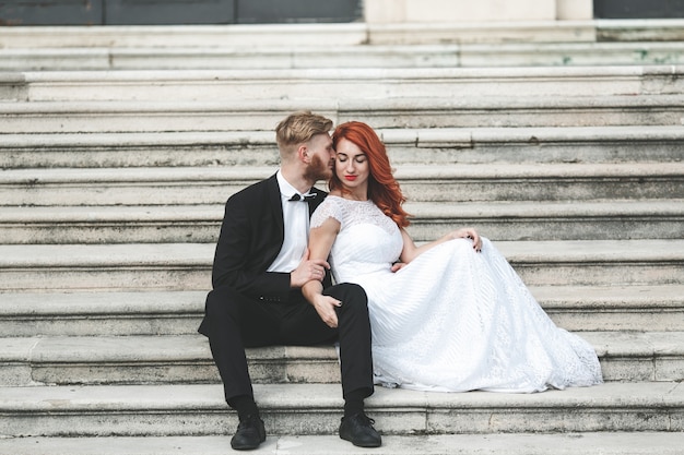
[[[332,121],[295,112],[275,129],[280,170],[231,196],[216,244],[213,290],[207,296],[199,332],[209,337],[228,405],[239,424],[231,440],[235,450],[252,450],[266,441],[255,402],[245,347],[319,345],[340,342],[344,417],[340,438],[377,447],[381,438],[364,412],[373,394],[370,323],[363,288],[331,286],[326,261],[308,259],[310,214],[327,193],[312,185],[332,175]],[[321,280],[333,297],[315,308],[302,286]]]

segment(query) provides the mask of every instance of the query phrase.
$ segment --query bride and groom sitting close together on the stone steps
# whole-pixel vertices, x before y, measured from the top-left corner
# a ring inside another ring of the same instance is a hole
[[[474,229],[413,242],[372,128],[331,129],[288,116],[275,130],[278,172],[225,206],[200,333],[238,414],[233,448],[266,441],[245,347],[339,342],[340,438],[364,447],[381,445],[364,409],[375,384],[531,393],[602,382],[593,348],[556,327]]]

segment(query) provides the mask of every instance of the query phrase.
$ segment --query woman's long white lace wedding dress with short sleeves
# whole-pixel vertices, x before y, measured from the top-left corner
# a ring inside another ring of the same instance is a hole
[[[594,349],[558,328],[487,240],[441,243],[390,271],[397,225],[370,201],[328,196],[311,228],[341,223],[330,262],[337,283],[368,295],[377,384],[421,391],[530,393],[602,382]]]

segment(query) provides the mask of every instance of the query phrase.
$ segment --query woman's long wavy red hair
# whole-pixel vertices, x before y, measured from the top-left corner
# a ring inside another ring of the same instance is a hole
[[[401,205],[406,199],[401,193],[399,183],[392,176],[392,168],[385,149],[385,144],[373,128],[358,121],[340,124],[332,133],[332,146],[338,147],[340,140],[345,139],[356,144],[366,154],[370,176],[368,177],[368,199],[377,205],[385,215],[389,216],[399,227],[409,226],[409,214]],[[330,190],[344,191],[342,181],[335,172],[329,182]]]

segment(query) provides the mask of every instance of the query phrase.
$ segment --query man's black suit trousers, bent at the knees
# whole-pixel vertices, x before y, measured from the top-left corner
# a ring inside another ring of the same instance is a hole
[[[338,328],[326,325],[299,290],[293,291],[287,302],[251,299],[226,286],[209,292],[199,332],[209,337],[226,402],[239,395],[253,396],[246,347],[312,346],[335,340],[340,342],[343,397],[353,391],[373,394],[366,292],[361,286],[340,284],[323,294],[342,301],[337,309]]]

